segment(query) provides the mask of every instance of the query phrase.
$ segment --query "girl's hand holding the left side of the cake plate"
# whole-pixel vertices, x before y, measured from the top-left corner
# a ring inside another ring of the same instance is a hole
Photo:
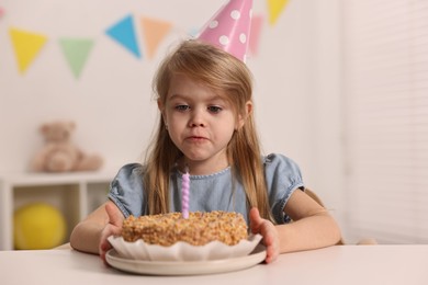
[[[105,253],[112,248],[108,238],[112,235],[117,236],[122,232],[123,215],[119,208],[108,203],[105,205],[105,212],[109,215],[109,223],[105,225],[104,229],[101,231],[99,252],[101,259],[106,264]]]

